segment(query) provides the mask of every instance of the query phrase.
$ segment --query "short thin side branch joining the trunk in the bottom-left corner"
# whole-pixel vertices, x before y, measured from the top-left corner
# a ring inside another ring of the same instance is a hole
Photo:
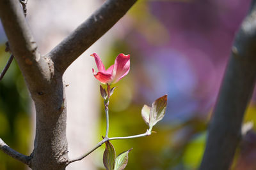
[[[23,162],[24,164],[27,164],[30,167],[30,157],[23,155],[12,148],[10,146],[6,145],[4,141],[0,138],[0,150],[3,150],[4,153],[9,155],[10,157],[13,157],[14,159],[19,160],[20,162]]]

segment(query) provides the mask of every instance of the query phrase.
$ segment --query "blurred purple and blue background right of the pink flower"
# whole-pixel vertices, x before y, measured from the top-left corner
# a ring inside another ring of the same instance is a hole
[[[153,19],[145,25],[148,18],[134,15],[137,26],[125,37],[138,62],[131,71],[140,88],[135,98],[150,102],[167,93],[166,120],[209,113],[249,5],[238,0],[149,1],[147,11]]]

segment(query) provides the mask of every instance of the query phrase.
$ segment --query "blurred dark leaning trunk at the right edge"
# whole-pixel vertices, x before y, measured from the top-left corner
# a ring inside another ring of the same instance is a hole
[[[226,170],[241,139],[244,111],[256,80],[256,5],[236,35],[211,124],[200,170]]]

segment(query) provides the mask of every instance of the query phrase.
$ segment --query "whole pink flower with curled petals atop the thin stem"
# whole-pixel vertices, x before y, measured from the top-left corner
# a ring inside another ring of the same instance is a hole
[[[124,53],[120,53],[117,55],[115,64],[110,66],[107,70],[105,69],[102,60],[97,55],[97,53],[93,53],[91,55],[94,57],[96,65],[98,67],[98,73],[95,73],[94,69],[92,69],[92,73],[100,81],[100,83],[116,83],[121,80],[124,76],[129,73],[130,70],[130,55],[124,55]]]

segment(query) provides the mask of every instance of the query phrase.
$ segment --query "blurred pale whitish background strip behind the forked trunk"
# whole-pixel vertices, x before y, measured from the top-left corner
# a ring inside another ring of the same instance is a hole
[[[83,22],[84,18],[90,17],[100,4],[102,4],[100,0],[76,0],[72,1],[72,4],[70,0],[61,0],[61,3],[52,0],[28,1],[27,19],[40,52],[47,53],[58,45]],[[99,127],[99,104],[102,104],[102,101],[98,96],[99,81],[92,74],[95,60],[90,57],[90,54],[97,52],[100,57],[104,57],[111,45],[111,39],[115,39],[115,34],[111,33],[113,31],[115,28],[90,46],[63,74],[63,81],[68,84],[65,92],[68,103],[67,140],[70,159],[84,154],[99,142],[97,138],[100,134],[97,128]],[[33,139],[34,136],[35,132]],[[93,152],[86,159],[69,164],[66,169],[97,169],[95,155],[97,153]]]

